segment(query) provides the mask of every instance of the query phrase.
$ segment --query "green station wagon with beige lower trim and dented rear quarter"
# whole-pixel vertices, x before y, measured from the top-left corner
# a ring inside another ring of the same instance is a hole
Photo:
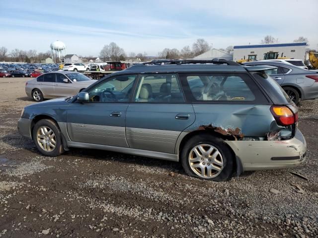
[[[105,76],[77,96],[25,107],[18,131],[45,156],[103,149],[181,161],[200,179],[294,167],[306,158],[306,141],[296,105],[265,73],[273,68],[154,60]]]

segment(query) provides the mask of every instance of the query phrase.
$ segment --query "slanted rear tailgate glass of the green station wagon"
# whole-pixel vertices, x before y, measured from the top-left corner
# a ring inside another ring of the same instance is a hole
[[[257,82],[259,82],[267,95],[273,101],[274,104],[292,104],[293,101],[286,94],[284,89],[264,71],[251,72]]]

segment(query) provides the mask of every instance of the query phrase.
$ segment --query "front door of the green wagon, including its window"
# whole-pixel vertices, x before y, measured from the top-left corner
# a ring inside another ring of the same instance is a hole
[[[72,141],[128,147],[126,111],[137,75],[119,75],[88,89],[89,102],[72,103],[67,129]]]

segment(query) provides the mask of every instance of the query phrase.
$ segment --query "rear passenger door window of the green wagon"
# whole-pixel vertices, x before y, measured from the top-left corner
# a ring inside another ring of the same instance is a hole
[[[146,74],[138,85],[135,102],[183,103],[176,74]]]

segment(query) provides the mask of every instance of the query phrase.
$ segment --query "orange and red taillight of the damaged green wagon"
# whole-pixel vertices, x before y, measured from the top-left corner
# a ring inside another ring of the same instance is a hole
[[[286,106],[272,106],[270,111],[279,125],[292,125],[298,121],[298,112],[293,113]]]

